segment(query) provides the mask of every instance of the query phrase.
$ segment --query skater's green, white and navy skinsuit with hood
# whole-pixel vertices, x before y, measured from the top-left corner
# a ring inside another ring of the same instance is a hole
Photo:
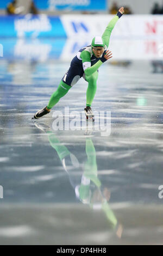
[[[90,46],[86,46],[79,50],[77,55],[72,59],[70,69],[66,72],[62,78],[58,89],[52,94],[51,99],[48,102],[47,108],[51,109],[61,97],[65,96],[70,88],[77,83],[77,81],[83,77],[88,82],[86,91],[86,106],[91,106],[92,101],[96,94],[98,69],[105,61],[104,54],[109,46],[110,35],[118,19],[122,15],[118,11],[117,15],[109,22],[102,37],[96,36],[92,40]],[[104,53],[100,58],[92,52],[92,47],[103,46]]]

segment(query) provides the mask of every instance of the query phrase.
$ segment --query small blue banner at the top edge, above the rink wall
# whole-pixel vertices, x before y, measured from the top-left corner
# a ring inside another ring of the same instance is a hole
[[[39,9],[105,11],[107,0],[34,0]]]

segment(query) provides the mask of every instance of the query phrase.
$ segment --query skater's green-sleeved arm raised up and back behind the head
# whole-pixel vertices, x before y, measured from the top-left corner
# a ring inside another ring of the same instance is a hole
[[[120,19],[120,17],[123,15],[123,13],[124,13],[124,8],[121,7],[120,10],[118,10],[118,13],[115,15],[115,17],[109,22],[108,26],[105,28],[105,31],[102,35],[102,39],[104,40],[107,48],[109,46],[109,40],[110,40],[110,35],[112,32],[112,29],[114,29],[116,22],[118,21],[118,19]]]

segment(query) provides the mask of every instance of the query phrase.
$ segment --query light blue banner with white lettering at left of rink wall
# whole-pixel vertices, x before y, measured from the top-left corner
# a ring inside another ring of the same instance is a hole
[[[66,38],[65,29],[59,17],[41,15],[0,16],[0,37]]]

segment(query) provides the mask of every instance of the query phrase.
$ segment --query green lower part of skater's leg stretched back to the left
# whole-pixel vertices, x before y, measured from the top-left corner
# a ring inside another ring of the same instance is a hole
[[[49,100],[49,103],[47,105],[47,109],[51,109],[55,104],[57,104],[60,98],[68,93],[68,90],[70,90],[70,88],[71,86],[68,86],[68,84],[61,81],[58,89],[52,94],[51,99]]]

